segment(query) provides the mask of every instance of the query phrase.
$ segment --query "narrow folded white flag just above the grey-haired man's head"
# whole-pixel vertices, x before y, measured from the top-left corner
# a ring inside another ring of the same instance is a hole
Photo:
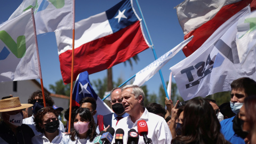
[[[147,67],[143,68],[140,70],[136,76],[135,76],[135,81],[133,82],[134,85],[141,86],[145,82],[148,81],[151,77],[153,77],[158,70],[160,70],[165,63],[167,63],[175,54],[177,54],[182,48],[188,44],[188,42],[191,41],[193,36],[189,37],[185,41],[181,42],[177,46],[175,46],[172,50],[169,52],[166,52],[162,57],[158,58],[157,60],[153,61],[148,65]]]

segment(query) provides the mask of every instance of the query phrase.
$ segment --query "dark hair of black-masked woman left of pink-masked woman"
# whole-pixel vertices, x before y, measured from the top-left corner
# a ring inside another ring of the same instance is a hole
[[[34,115],[34,123],[38,132],[44,133],[44,129],[42,129],[40,125],[43,125],[43,117],[47,113],[53,113],[56,116],[57,121],[59,121],[57,113],[52,107],[44,107],[38,110],[37,114]]]

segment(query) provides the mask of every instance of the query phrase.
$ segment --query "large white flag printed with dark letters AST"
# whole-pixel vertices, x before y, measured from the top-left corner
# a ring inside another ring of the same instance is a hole
[[[239,63],[235,43],[237,21],[248,13],[248,7],[235,14],[217,29],[197,51],[185,60],[171,67],[175,81],[183,100],[194,97],[230,91],[230,84],[240,77],[255,79],[255,61],[253,53],[245,61],[247,68]],[[231,24],[231,26],[230,26]],[[213,37],[223,33],[220,37]],[[211,41],[210,39],[215,39]]]

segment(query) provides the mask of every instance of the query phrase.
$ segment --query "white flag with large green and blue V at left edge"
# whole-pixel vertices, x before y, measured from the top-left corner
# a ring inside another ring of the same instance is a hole
[[[41,78],[31,10],[0,25],[0,82]]]

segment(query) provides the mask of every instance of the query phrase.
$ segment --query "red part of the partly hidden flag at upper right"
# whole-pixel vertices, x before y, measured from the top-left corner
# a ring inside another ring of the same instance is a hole
[[[244,9],[244,7],[248,6],[250,3],[254,3],[254,2],[252,2],[252,0],[243,0],[236,3],[225,5],[218,11],[218,13],[212,19],[209,19],[209,21],[204,22],[202,26],[198,27],[196,25],[194,26],[195,27],[194,30],[191,29],[191,31],[187,31],[187,34],[184,36],[184,39],[187,39],[192,35],[194,36],[194,38],[182,50],[183,53],[186,55],[186,57],[188,57],[190,54],[195,52],[224,22],[226,22],[229,18],[231,18],[237,12]],[[253,9],[254,9],[254,6],[255,6],[254,4],[251,5]],[[189,11],[191,11],[191,9]],[[203,15],[204,13],[199,13],[198,15],[200,14]]]

